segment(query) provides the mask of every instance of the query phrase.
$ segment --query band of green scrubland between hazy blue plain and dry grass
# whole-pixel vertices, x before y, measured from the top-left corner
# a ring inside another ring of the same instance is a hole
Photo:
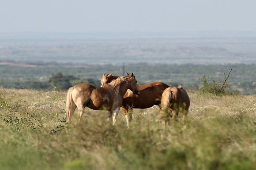
[[[234,67],[233,67],[234,66]],[[125,65],[125,72],[133,72],[138,84],[161,81],[173,87],[181,84],[183,87],[199,87],[199,80],[207,75],[216,82],[233,67],[232,77],[229,78],[231,90],[238,90],[243,94],[256,93],[256,65],[147,65],[146,63]],[[100,85],[103,73],[122,76],[122,66],[118,65],[90,65],[87,67],[18,67],[0,65],[0,86],[5,88],[50,89],[49,79],[61,73],[67,77],[68,84],[90,83]],[[73,76],[73,77],[72,77]],[[71,78],[72,77],[72,78]],[[56,77],[55,77],[56,78]],[[61,79],[59,79],[60,81]],[[63,88],[66,89],[66,88]]]

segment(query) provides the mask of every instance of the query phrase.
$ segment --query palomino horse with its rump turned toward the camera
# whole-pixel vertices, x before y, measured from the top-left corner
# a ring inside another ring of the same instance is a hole
[[[159,112],[159,116],[164,120],[164,124],[166,120],[169,121],[169,117],[176,119],[179,116],[179,112],[183,113],[183,124],[186,122],[190,100],[187,92],[181,86],[178,88],[166,88],[162,94],[161,105],[162,109]],[[172,116],[170,111],[173,113]]]

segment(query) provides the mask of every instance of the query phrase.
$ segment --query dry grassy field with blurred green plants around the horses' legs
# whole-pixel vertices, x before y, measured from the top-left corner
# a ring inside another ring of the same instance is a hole
[[[256,98],[188,93],[187,124],[134,109],[127,129],[86,109],[63,123],[66,92],[0,89],[2,169],[256,169]]]

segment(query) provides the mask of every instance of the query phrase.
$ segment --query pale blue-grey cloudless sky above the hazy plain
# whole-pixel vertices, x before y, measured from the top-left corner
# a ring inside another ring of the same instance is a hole
[[[0,32],[256,31],[256,0],[0,0]]]

